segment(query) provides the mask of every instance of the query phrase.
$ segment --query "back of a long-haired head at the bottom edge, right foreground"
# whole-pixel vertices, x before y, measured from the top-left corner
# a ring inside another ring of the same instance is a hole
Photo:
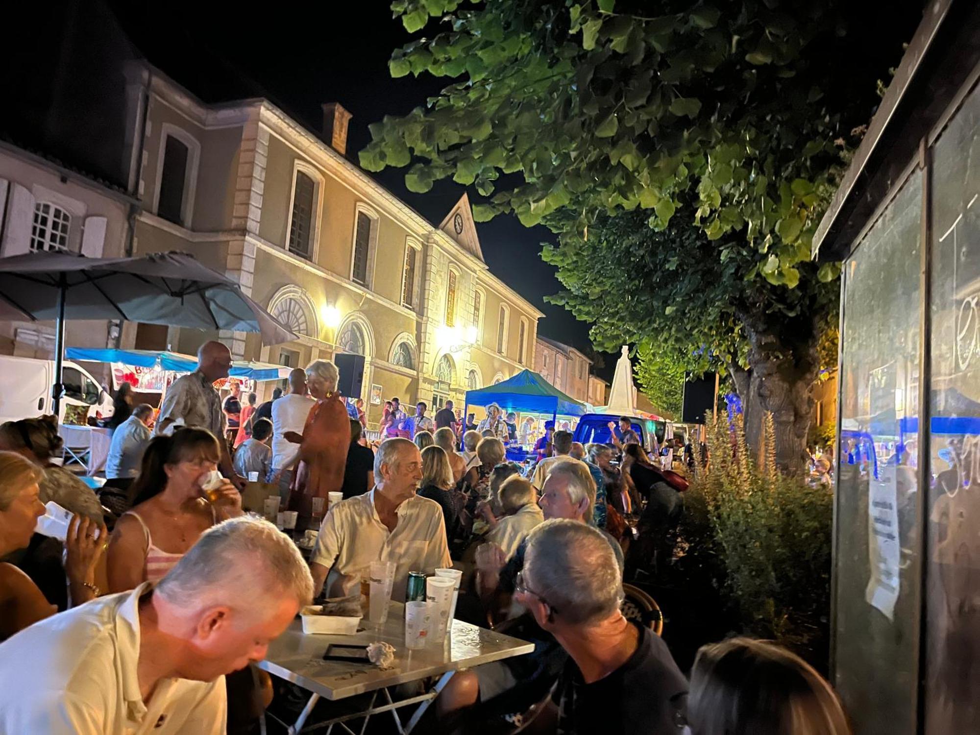
[[[688,723],[691,735],[851,735],[840,700],[809,663],[749,638],[698,652]]]

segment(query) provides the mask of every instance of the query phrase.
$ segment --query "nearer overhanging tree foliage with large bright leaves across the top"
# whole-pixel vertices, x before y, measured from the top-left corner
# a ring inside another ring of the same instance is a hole
[[[489,197],[478,219],[514,212],[560,233],[624,210],[663,230],[687,197],[719,256],[748,249],[756,273],[794,288],[884,72],[851,33],[860,5],[396,0],[409,31],[442,20],[391,73],[462,80],[372,125],[361,163],[415,160],[413,191],[451,176]]]

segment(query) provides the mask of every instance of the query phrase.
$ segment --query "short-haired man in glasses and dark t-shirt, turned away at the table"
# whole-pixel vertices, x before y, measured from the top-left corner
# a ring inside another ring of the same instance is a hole
[[[559,735],[679,735],[687,680],[660,636],[619,612],[622,576],[602,533],[549,520],[528,536],[516,597],[570,660],[552,703]]]

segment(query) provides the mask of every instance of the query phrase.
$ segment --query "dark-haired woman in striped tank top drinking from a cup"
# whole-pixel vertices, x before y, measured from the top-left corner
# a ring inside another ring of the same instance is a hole
[[[116,523],[109,543],[109,591],[157,582],[215,523],[242,514],[241,495],[227,480],[207,500],[201,483],[218,468],[218,439],[205,429],[158,436],[133,483],[134,508]]]

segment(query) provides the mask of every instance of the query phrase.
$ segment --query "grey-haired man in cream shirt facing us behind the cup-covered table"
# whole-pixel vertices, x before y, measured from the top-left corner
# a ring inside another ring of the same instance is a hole
[[[281,400],[281,399],[280,399]],[[387,439],[374,456],[374,488],[330,508],[310,560],[316,594],[329,574],[327,597],[344,597],[361,583],[371,562],[395,563],[392,600],[405,599],[410,571],[451,566],[442,509],[416,495],[422,479],[417,446]]]

